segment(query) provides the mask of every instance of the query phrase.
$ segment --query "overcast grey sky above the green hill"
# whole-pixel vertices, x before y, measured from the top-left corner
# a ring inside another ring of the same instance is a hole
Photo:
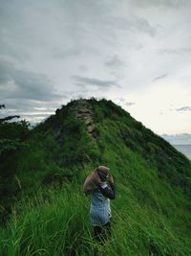
[[[106,98],[191,133],[190,0],[0,0],[0,104],[32,123]]]

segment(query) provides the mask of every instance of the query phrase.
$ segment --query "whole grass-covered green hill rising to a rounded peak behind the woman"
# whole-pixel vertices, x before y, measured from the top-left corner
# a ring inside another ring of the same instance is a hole
[[[96,166],[111,169],[113,237],[99,255],[191,255],[191,162],[120,106],[72,101],[44,123],[0,124],[0,255],[94,255]]]

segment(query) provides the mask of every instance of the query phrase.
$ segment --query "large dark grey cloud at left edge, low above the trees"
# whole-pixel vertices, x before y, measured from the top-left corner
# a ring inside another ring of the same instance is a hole
[[[53,82],[46,75],[19,69],[3,58],[0,58],[0,96],[37,101],[50,101],[61,97],[54,92]]]

